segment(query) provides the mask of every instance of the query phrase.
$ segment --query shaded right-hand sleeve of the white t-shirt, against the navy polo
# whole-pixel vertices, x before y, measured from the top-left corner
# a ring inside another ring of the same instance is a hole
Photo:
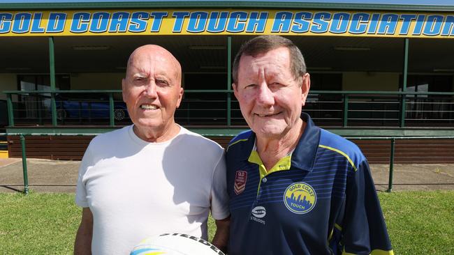
[[[211,214],[214,219],[226,219],[230,215],[226,177],[226,158],[222,153],[212,177]]]

